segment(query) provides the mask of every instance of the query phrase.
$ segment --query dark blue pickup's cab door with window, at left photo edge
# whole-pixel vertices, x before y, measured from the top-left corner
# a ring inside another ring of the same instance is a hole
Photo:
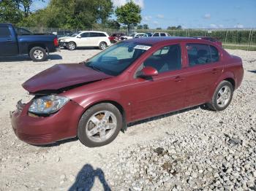
[[[0,55],[18,55],[18,42],[11,26],[0,25]]]

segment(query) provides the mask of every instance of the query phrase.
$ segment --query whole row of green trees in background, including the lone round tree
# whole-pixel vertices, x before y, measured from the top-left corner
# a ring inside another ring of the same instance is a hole
[[[0,23],[46,28],[120,28],[137,26],[141,9],[133,1],[114,9],[111,0],[51,0],[47,7],[32,11],[44,0],[0,0]],[[110,18],[116,14],[117,19]]]

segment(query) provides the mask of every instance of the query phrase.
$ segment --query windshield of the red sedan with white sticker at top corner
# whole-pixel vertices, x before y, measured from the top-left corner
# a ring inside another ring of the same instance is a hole
[[[111,76],[118,76],[149,48],[151,46],[148,44],[120,42],[91,58],[86,62],[86,66]]]

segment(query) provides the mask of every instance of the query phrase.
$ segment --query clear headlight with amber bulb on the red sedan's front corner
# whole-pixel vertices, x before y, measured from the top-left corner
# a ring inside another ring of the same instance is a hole
[[[63,107],[69,98],[59,95],[46,95],[35,98],[29,106],[29,112],[35,114],[52,114]]]

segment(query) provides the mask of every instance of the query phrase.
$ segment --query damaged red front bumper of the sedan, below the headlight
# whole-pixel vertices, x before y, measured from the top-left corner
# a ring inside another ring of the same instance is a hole
[[[20,140],[40,145],[77,136],[82,106],[69,101],[59,112],[42,117],[29,112],[30,104],[18,101],[17,109],[10,112],[12,129]]]

